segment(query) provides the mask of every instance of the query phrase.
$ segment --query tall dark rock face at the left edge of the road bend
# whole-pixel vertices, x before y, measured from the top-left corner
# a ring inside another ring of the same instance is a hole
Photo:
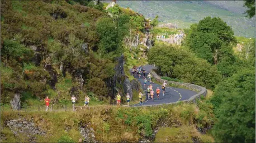
[[[124,54],[122,54],[121,57],[118,58],[117,65],[115,67],[116,73],[115,73],[115,76],[113,77],[112,98],[114,98],[118,92],[117,84],[120,84],[124,88],[124,94],[122,94],[122,92],[118,92],[118,93],[120,93],[121,96],[125,96],[127,93],[129,93],[132,99],[131,83],[129,78],[127,78],[125,75],[124,65],[125,65]]]

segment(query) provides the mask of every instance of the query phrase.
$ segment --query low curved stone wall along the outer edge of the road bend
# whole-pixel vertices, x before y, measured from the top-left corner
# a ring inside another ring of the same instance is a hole
[[[175,82],[175,81],[167,81],[163,80],[160,76],[157,75],[153,70],[151,70],[151,75],[154,77],[154,79],[157,82],[163,83],[164,81],[167,83],[167,85],[178,85],[188,88],[188,90],[197,91],[198,93],[196,95],[191,96],[188,100],[182,100],[182,102],[196,102],[196,98],[200,98],[201,95],[204,97],[207,95],[207,90],[205,87],[193,85],[191,83],[184,83],[184,82]],[[168,103],[170,104],[170,103]]]

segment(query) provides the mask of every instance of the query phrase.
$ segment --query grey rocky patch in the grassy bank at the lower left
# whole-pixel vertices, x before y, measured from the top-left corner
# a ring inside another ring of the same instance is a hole
[[[35,135],[46,134],[46,132],[40,130],[39,127],[36,127],[33,120],[10,120],[6,122],[6,126],[10,127],[10,130],[17,137],[20,134],[29,137],[30,142],[36,141]]]

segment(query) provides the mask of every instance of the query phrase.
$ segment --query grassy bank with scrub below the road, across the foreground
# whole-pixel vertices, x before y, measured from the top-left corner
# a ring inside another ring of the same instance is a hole
[[[97,107],[77,112],[3,112],[1,136],[6,137],[2,142],[29,141],[24,133],[19,132],[13,136],[4,123],[13,119],[32,119],[36,126],[46,132],[44,136],[34,136],[36,142],[60,142],[60,139],[78,142],[79,138],[84,140],[80,127],[92,128],[96,140],[102,142],[138,142],[142,139],[156,142],[213,142],[211,135],[205,134],[212,126],[211,120],[214,120],[209,107],[205,102],[198,101],[198,106],[179,103],[158,107]]]

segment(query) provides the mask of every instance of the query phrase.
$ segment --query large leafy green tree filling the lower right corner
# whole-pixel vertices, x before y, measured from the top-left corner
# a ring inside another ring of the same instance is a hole
[[[245,68],[215,88],[211,103],[220,142],[255,142],[255,69]]]

